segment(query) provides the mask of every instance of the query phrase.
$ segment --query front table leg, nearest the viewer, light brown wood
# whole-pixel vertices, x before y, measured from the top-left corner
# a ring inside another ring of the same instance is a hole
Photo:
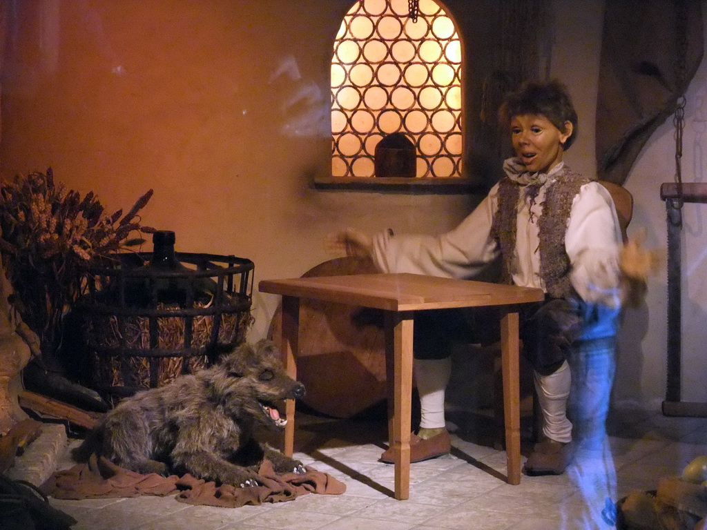
[[[395,455],[395,498],[399,500],[410,496],[412,333],[413,312],[385,312],[386,356],[392,358],[393,372],[392,378],[389,372],[387,379],[389,413],[391,394],[393,402],[392,421],[390,416],[388,418],[389,443]],[[387,366],[390,369],[390,362]]]

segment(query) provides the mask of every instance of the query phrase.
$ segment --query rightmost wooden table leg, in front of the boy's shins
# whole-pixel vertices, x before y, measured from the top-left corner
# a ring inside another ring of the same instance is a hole
[[[520,484],[520,367],[518,313],[501,319],[501,370],[503,411],[506,422],[506,466],[508,483]]]

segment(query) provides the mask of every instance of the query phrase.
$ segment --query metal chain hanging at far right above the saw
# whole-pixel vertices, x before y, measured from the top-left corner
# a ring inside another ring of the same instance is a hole
[[[682,208],[682,134],[685,126],[685,105],[687,100],[684,92],[687,71],[687,6],[685,0],[675,2],[675,30],[677,33],[677,57],[675,59],[676,86],[679,97],[675,103],[675,114],[672,123],[675,126],[675,184],[677,184],[677,198],[674,206]]]

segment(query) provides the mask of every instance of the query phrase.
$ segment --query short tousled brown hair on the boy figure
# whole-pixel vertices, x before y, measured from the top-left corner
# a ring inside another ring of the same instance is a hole
[[[565,141],[567,151],[574,143],[578,132],[577,112],[572,105],[567,87],[559,81],[523,83],[515,92],[503,98],[503,105],[498,110],[498,117],[504,129],[510,129],[510,120],[522,114],[540,114],[562,132],[566,131],[565,122],[572,124],[572,134]]]

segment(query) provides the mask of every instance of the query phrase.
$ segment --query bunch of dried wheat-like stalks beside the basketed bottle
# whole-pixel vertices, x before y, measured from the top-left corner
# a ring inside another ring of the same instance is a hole
[[[88,266],[121,249],[144,242],[134,232],[138,213],[153,194],[141,196],[128,213],[107,215],[93,192],[66,191],[46,174],[18,175],[0,186],[0,254],[14,291],[11,302],[40,337],[42,356],[57,353],[62,319],[81,295]]]

